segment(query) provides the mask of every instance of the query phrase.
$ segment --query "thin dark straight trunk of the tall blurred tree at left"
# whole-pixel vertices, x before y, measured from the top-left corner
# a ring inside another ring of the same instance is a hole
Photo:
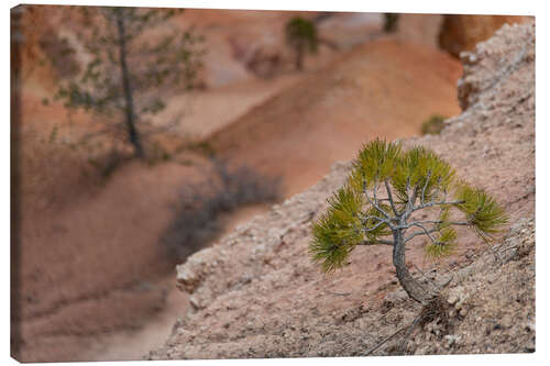
[[[122,9],[119,9],[119,11],[117,12],[117,27],[119,31],[119,62],[122,75],[122,88],[124,91],[124,114],[127,120],[127,131],[130,143],[134,146],[135,156],[138,156],[139,158],[143,158],[141,138],[138,129],[135,127],[132,87],[130,85],[130,75],[127,66],[127,41],[123,19],[124,15],[122,14]]]

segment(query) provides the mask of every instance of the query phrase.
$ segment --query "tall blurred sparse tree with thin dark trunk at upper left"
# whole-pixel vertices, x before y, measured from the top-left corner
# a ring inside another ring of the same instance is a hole
[[[169,93],[194,86],[201,66],[201,41],[189,30],[169,26],[182,10],[78,7],[82,25],[77,37],[86,67],[62,82],[57,99],[107,117],[101,131],[129,142],[144,157],[143,136],[178,121],[153,125],[151,118],[166,107]],[[113,122],[114,121],[114,122]]]

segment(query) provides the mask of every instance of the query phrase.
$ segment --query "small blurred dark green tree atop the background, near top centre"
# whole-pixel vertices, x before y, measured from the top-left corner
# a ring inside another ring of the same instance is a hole
[[[314,22],[304,18],[295,16],[286,23],[285,27],[286,43],[296,54],[296,69],[304,68],[304,57],[306,53],[317,53],[319,40],[317,27]]]

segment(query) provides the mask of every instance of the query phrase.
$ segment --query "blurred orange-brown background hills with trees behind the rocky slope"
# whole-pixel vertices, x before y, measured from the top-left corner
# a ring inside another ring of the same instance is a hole
[[[12,356],[140,359],[176,264],[372,138],[461,112],[460,54],[527,16],[11,11]]]

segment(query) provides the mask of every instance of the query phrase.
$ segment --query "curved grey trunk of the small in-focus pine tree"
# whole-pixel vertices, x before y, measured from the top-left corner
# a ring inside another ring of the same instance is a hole
[[[428,303],[437,293],[421,286],[408,271],[405,265],[405,241],[400,230],[394,232],[394,242],[393,259],[399,284],[413,299],[422,304]]]

